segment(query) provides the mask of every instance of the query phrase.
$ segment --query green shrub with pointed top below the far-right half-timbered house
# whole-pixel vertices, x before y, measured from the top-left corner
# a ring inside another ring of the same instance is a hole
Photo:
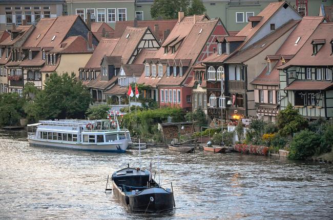
[[[308,126],[307,120],[290,103],[285,109],[279,112],[276,119],[279,133],[282,136],[291,136]]]

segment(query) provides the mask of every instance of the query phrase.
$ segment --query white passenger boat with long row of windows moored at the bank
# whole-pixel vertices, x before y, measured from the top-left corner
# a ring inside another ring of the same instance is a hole
[[[33,146],[99,152],[125,152],[132,144],[130,132],[120,129],[116,115],[106,120],[40,120],[28,127]]]

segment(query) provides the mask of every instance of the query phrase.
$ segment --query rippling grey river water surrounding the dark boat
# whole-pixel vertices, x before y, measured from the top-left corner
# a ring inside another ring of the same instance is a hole
[[[152,157],[155,173],[159,153],[160,181],[172,181],[176,209],[140,214],[105,193],[108,174],[123,163],[138,166],[138,151],[37,148],[25,135],[0,131],[0,219],[333,218],[331,164],[150,148],[141,151],[142,167]]]

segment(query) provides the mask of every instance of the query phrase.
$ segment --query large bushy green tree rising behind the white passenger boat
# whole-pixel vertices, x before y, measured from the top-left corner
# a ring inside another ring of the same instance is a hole
[[[84,118],[91,102],[90,92],[74,73],[60,76],[54,72],[25,111],[35,120]]]

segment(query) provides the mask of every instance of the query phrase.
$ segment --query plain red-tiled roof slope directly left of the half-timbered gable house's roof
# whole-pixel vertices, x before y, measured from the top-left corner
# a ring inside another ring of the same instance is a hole
[[[98,69],[100,68],[100,62],[103,56],[111,55],[115,46],[117,45],[119,38],[101,38],[99,41],[94,53],[91,55],[87,64],[85,65],[85,69]]]

